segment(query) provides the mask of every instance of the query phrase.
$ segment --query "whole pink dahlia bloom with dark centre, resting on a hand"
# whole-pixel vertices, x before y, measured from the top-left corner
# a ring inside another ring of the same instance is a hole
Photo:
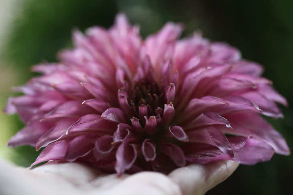
[[[26,126],[9,146],[45,149],[32,164],[79,161],[105,172],[169,172],[190,163],[268,161],[289,154],[261,114],[280,118],[284,97],[263,68],[228,44],[167,23],[143,40],[119,14],[109,30],[73,33],[74,49],[17,87],[7,113]]]

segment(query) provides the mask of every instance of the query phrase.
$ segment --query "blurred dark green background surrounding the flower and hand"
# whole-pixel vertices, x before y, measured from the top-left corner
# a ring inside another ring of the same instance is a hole
[[[201,30],[205,37],[228,42],[243,58],[265,67],[265,77],[293,105],[293,1],[175,1],[175,0],[0,0],[0,106],[10,87],[26,82],[30,66],[55,61],[58,50],[71,46],[71,30],[93,25],[109,27],[117,12],[141,26],[143,36],[168,20],[183,22],[183,36]],[[293,110],[285,118],[269,119],[293,148]],[[17,116],[0,115],[0,157],[28,166],[38,155],[32,147],[6,147],[22,123]],[[240,165],[225,182],[207,194],[287,194],[293,175],[293,156],[275,155],[255,166]]]

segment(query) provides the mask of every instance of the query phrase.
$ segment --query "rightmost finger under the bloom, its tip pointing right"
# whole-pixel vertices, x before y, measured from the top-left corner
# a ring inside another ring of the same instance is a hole
[[[206,165],[189,165],[174,170],[169,177],[179,185],[183,195],[205,194],[226,180],[238,167],[235,161],[218,161]]]

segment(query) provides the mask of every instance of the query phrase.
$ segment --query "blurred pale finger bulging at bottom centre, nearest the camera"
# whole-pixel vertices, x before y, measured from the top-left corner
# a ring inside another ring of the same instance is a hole
[[[93,195],[94,193],[91,193]],[[104,195],[182,195],[179,186],[161,173],[141,172],[127,177]]]

